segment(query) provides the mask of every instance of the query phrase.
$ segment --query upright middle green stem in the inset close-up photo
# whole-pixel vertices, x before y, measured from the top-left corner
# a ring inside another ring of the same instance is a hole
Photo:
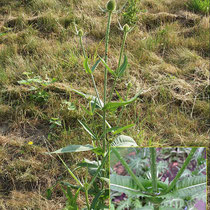
[[[152,174],[152,188],[153,193],[157,193],[157,166],[156,166],[156,149],[154,147],[149,148],[150,150],[150,165]]]

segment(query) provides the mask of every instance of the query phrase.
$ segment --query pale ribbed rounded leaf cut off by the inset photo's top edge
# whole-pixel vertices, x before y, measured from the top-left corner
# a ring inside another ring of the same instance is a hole
[[[120,135],[111,143],[111,147],[137,147],[135,140],[130,136]]]

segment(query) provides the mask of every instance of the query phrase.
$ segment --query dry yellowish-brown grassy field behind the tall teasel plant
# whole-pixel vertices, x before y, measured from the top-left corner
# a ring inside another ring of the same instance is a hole
[[[118,2],[119,8],[125,3]],[[143,147],[209,146],[209,15],[193,10],[189,0],[136,2],[133,18],[126,8],[124,15],[113,15],[108,57],[116,68],[123,36],[118,21],[135,25],[125,45],[129,68],[116,90],[123,99],[128,86],[128,98],[142,94],[107,121],[112,126],[134,123],[124,134]],[[98,7],[105,3],[1,0],[0,209],[64,207],[61,189],[55,188],[51,200],[46,189],[57,180],[72,180],[60,160],[44,152],[91,143],[78,120],[85,119],[95,131],[101,128],[100,118],[84,111],[88,104],[71,88],[94,95],[74,23],[84,31],[86,53],[94,63],[105,50],[106,14]],[[103,69],[100,64],[94,72],[100,95]],[[109,79],[108,87],[112,83]],[[112,101],[117,100],[114,94]],[[62,157],[74,168],[94,155]],[[83,206],[83,194],[79,203]]]

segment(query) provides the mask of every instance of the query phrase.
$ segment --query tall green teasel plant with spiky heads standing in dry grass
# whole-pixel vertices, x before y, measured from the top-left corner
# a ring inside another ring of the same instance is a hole
[[[74,170],[71,170],[67,166],[67,164],[65,164],[65,162],[61,159],[67,171],[77,183],[76,185],[72,185],[70,183],[62,183],[62,184],[70,188],[78,189],[77,194],[79,192],[85,193],[86,209],[108,209],[108,206],[105,205],[104,200],[109,197],[109,190],[105,187],[106,185],[104,183],[104,180],[107,180],[107,177],[109,175],[109,167],[108,167],[107,162],[108,162],[108,156],[109,156],[110,142],[111,142],[111,145],[115,145],[115,146],[137,146],[136,142],[131,137],[125,136],[125,135],[118,135],[125,129],[132,127],[133,124],[112,127],[110,123],[108,122],[109,113],[111,111],[116,110],[118,107],[125,106],[134,102],[140,94],[138,93],[136,94],[136,96],[126,101],[121,100],[121,101],[111,102],[111,99],[107,100],[107,97],[109,95],[112,95],[112,93],[107,93],[108,72],[111,74],[111,77],[117,80],[117,78],[123,76],[123,73],[125,72],[126,67],[127,67],[127,57],[124,56],[124,62],[122,65],[121,65],[121,59],[123,55],[126,36],[127,36],[127,33],[129,32],[128,25],[124,26],[124,35],[123,35],[122,47],[121,47],[120,55],[119,55],[118,68],[116,70],[112,70],[108,65],[108,46],[109,46],[109,36],[110,36],[110,25],[111,25],[112,15],[115,13],[115,10],[116,10],[116,2],[114,0],[108,1],[106,5],[106,9],[103,10],[108,14],[106,36],[105,36],[104,58],[101,58],[98,56],[98,60],[92,67],[90,67],[89,65],[89,58],[88,58],[87,52],[85,51],[85,47],[83,45],[83,31],[77,30],[76,28],[76,32],[79,37],[79,43],[80,43],[82,53],[84,56],[83,66],[87,75],[89,75],[92,79],[92,83],[95,89],[95,95],[83,93],[75,89],[71,89],[71,90],[79,94],[80,96],[86,98],[89,101],[90,110],[87,110],[85,108],[84,110],[87,112],[87,114],[91,116],[96,115],[97,117],[100,117],[102,119],[101,130],[98,133],[96,133],[93,131],[92,128],[90,128],[90,126],[86,122],[79,120],[80,125],[90,135],[90,138],[92,140],[92,145],[90,144],[68,145],[64,148],[51,152],[51,154],[87,152],[87,151],[92,151],[93,153],[95,153],[96,161],[85,159],[81,163],[79,163],[78,167]],[[100,98],[100,92],[97,89],[95,79],[94,79],[94,71],[97,69],[99,63],[102,63],[105,66],[103,100]],[[112,89],[114,90],[114,88]],[[84,181],[82,181],[75,174],[75,170],[78,170],[79,168],[86,168],[86,175],[82,179]],[[91,178],[91,181],[88,182],[88,178],[90,176],[92,178]],[[66,196],[68,196],[69,194],[71,193],[68,188],[68,192],[66,193]],[[74,196],[74,199],[71,202],[69,202],[71,203],[71,205],[75,206],[75,203],[76,203],[75,198],[77,198],[77,194],[76,196]],[[90,195],[93,196],[92,203],[89,202]]]

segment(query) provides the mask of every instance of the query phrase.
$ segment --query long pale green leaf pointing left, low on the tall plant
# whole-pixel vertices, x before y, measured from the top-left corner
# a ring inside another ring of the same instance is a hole
[[[90,144],[87,145],[69,145],[67,147],[61,148],[59,150],[56,150],[54,152],[47,152],[47,154],[53,154],[53,153],[69,153],[69,152],[84,152],[93,150],[93,146]]]

